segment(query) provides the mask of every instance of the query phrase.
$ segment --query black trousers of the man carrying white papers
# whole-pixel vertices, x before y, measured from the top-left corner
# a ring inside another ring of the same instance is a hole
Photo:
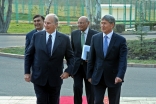
[[[88,104],[94,104],[94,91],[93,86],[86,79],[86,65],[80,65],[77,73],[74,75],[74,104],[82,104],[82,94],[83,94],[83,80],[85,84],[85,91]]]

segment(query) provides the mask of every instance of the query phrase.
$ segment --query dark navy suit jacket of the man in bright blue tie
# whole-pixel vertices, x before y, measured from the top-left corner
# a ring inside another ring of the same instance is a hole
[[[92,78],[92,84],[97,85],[104,74],[104,81],[108,87],[116,87],[115,78],[122,80],[127,68],[126,39],[113,33],[107,54],[103,53],[103,33],[92,37],[91,49],[87,67],[87,78]]]

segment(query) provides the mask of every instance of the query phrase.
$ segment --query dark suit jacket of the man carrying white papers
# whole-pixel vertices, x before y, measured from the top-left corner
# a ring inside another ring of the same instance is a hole
[[[85,45],[90,46],[91,38],[96,33],[98,32],[95,30],[92,30],[92,29],[88,30]],[[82,63],[82,59],[81,59],[82,47],[81,47],[81,31],[80,30],[75,30],[71,33],[71,44],[72,44],[72,48],[74,51],[74,59],[75,59],[75,64],[74,64],[72,75],[75,75]]]

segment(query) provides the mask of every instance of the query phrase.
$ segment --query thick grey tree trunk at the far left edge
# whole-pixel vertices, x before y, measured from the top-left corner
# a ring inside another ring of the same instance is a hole
[[[9,24],[11,21],[11,14],[12,14],[12,1],[8,0],[8,5],[4,5],[7,0],[0,0],[0,33],[6,33]],[[5,9],[7,9],[7,13],[5,16]]]

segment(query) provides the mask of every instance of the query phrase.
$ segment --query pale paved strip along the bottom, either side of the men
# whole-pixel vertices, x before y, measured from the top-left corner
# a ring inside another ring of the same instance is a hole
[[[0,104],[35,104],[35,103],[36,103],[35,96],[0,97]],[[120,104],[156,104],[156,97],[121,97]]]

